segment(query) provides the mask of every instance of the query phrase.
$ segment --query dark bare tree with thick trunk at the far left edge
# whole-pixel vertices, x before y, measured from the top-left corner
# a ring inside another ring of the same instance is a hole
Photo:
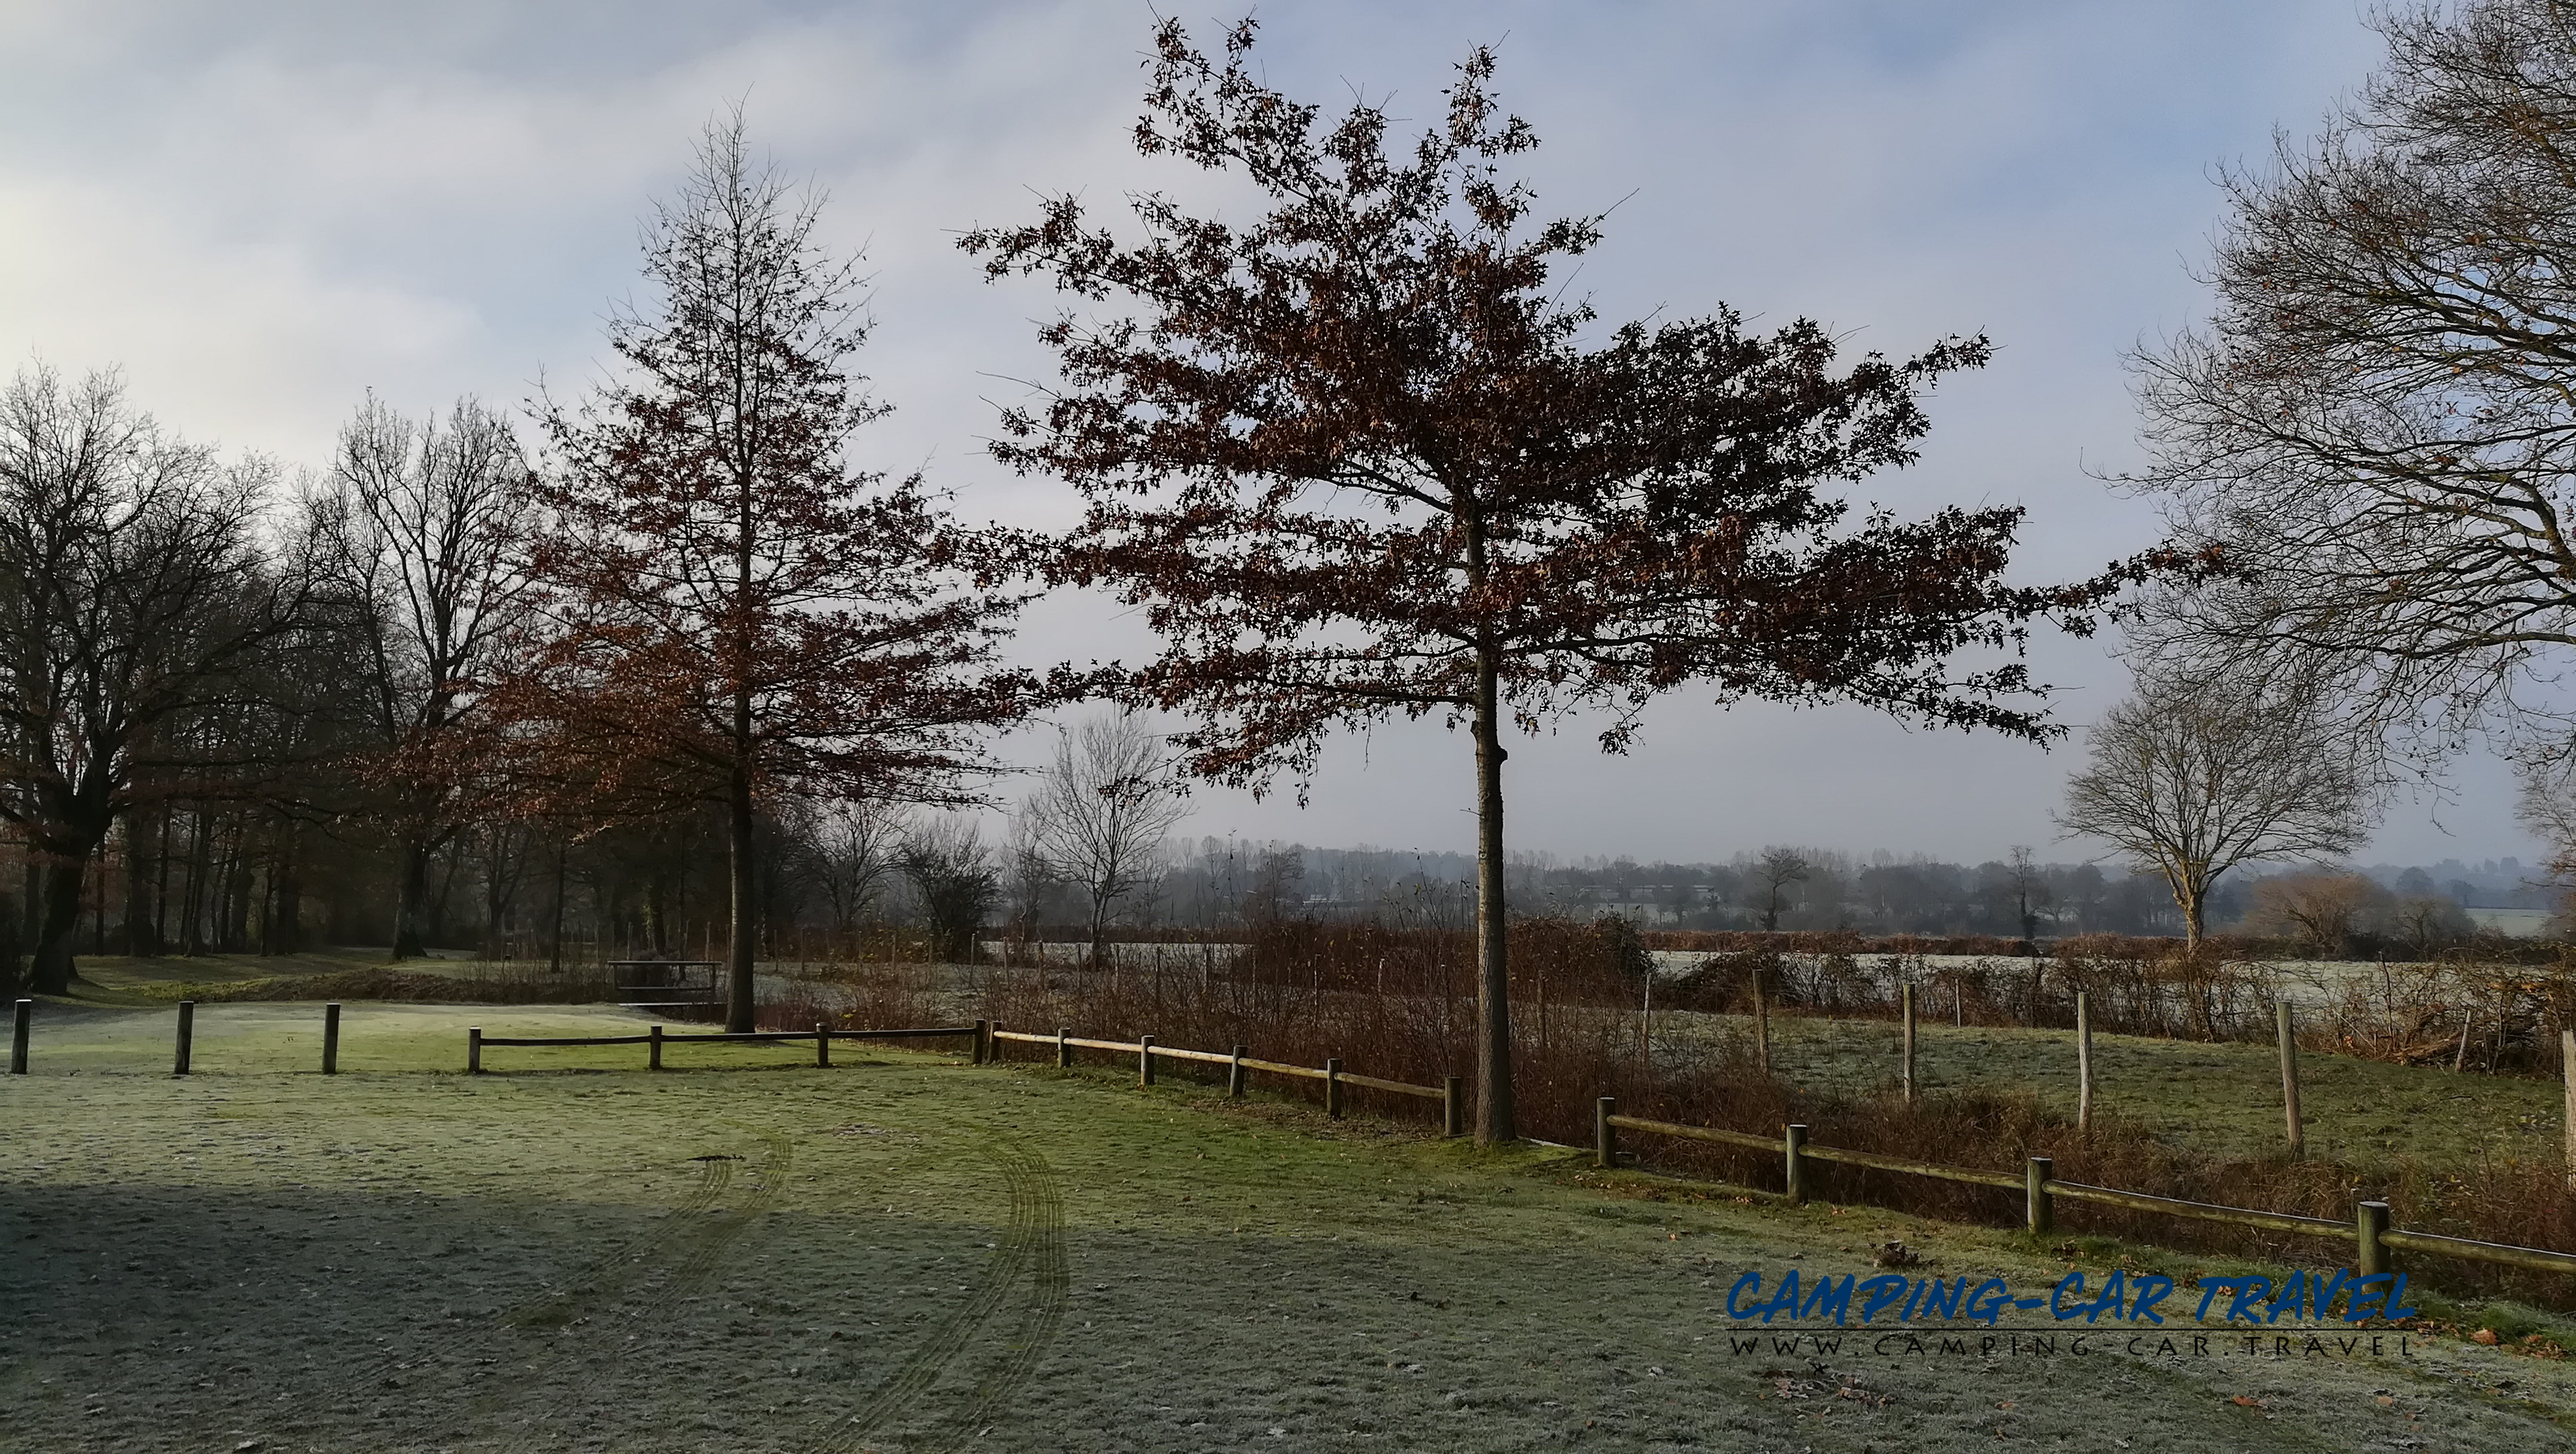
[[[113,373],[0,391],[0,816],[41,867],[39,993],[70,988],[116,818],[155,772],[216,767],[183,723],[237,705],[258,654],[312,623],[312,576],[260,551],[270,476],[165,435]]]

